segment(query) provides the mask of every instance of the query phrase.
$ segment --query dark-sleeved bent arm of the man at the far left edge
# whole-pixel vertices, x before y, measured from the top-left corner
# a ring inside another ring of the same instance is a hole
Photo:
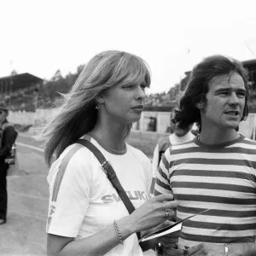
[[[0,159],[3,160],[12,148],[13,143],[17,137],[17,132],[13,126],[8,126],[3,130],[3,147],[0,148]]]

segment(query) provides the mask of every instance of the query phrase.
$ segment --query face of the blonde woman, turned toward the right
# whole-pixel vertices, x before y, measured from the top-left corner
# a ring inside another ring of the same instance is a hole
[[[144,99],[145,84],[117,84],[105,92],[102,107],[110,119],[127,125],[141,118]]]

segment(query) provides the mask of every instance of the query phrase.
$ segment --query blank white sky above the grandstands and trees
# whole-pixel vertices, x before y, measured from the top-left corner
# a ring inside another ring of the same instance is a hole
[[[150,67],[148,93],[168,91],[208,55],[256,58],[254,0],[0,0],[0,77],[75,73],[119,49]]]

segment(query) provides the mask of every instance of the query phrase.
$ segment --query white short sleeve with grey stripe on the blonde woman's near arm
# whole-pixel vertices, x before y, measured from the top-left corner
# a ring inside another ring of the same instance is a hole
[[[67,153],[54,166],[57,170],[50,170],[55,175],[49,181],[49,216],[46,229],[49,234],[76,237],[89,205],[92,183],[90,165],[86,165],[86,158],[84,159],[86,149],[76,147],[70,150],[77,149],[70,160],[67,159]]]

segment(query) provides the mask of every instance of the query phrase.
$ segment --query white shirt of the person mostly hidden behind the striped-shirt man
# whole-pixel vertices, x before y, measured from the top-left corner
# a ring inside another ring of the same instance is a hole
[[[194,137],[195,137],[195,135],[191,131],[189,131],[182,137],[177,137],[177,135],[175,133],[172,133],[169,136],[169,140],[170,140],[171,145],[177,145],[179,143],[184,143],[186,141],[193,140]],[[154,154],[153,154],[153,160],[152,160],[153,177],[156,177],[159,162],[160,162],[159,144],[157,143],[154,148]]]

